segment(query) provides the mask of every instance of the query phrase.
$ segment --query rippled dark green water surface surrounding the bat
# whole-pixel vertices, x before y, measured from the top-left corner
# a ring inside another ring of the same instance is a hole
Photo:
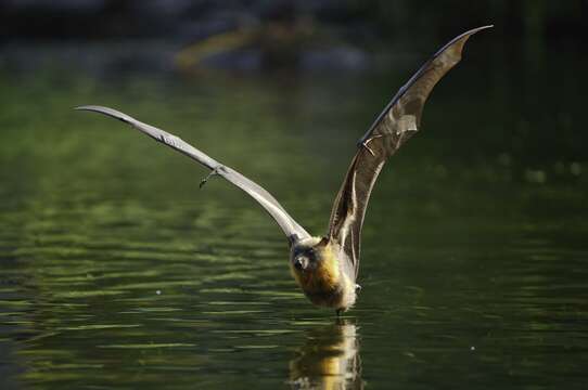
[[[1,73],[2,388],[586,388],[586,61],[469,55],[381,176],[363,289],[340,322],[298,291],[252,199],[221,180],[199,190],[188,158],[71,108],[177,133],[322,234],[355,142],[419,61]]]

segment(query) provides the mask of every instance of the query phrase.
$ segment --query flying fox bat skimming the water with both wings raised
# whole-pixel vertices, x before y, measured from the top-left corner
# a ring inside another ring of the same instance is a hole
[[[276,220],[290,244],[290,270],[304,294],[318,306],[333,308],[337,315],[351,308],[357,299],[359,285],[359,250],[361,226],[373,185],[382,167],[421,125],[424,103],[433,87],[460,60],[465,41],[475,32],[491,26],[469,30],[437,51],[404,84],[384,110],[376,117],[358,142],[358,150],[338,191],[329,230],[324,236],[311,236],[284,208],[260,185],[245,178],[199,151],[180,138],[143,123],[118,110],[86,105],[85,109],[119,119],[155,141],[196,160],[210,169],[212,176],[220,176],[237,185]]]

